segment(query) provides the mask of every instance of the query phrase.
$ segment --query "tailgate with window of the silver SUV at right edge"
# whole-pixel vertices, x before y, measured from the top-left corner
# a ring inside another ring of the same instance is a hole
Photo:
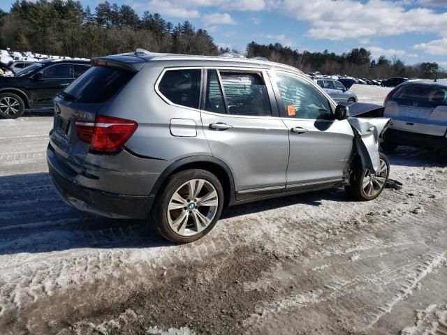
[[[384,116],[393,119],[395,129],[444,136],[447,131],[447,87],[404,84],[388,99]]]

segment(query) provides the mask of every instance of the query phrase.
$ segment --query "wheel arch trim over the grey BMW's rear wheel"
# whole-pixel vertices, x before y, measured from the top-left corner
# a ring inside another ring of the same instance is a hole
[[[219,179],[223,188],[224,207],[227,207],[235,202],[235,181],[233,172],[231,172],[226,163],[223,163],[223,161],[212,156],[192,156],[175,161],[175,163],[169,165],[168,168],[160,174],[159,179],[157,179],[154,187],[152,188],[150,196],[156,197],[159,191],[163,189],[163,185],[166,184],[168,177],[171,175],[191,169],[207,170]]]

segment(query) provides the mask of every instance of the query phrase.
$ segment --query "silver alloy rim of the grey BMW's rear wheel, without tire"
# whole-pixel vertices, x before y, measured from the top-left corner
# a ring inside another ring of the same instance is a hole
[[[212,223],[218,207],[219,195],[210,181],[191,179],[171,196],[168,223],[179,235],[195,235]]]

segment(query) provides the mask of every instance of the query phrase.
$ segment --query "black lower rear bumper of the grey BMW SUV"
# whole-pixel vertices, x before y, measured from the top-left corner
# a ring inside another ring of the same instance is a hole
[[[47,149],[47,164],[54,189],[66,204],[108,218],[149,217],[154,197],[106,193],[80,186],[76,183],[76,174],[57,160],[50,146]]]

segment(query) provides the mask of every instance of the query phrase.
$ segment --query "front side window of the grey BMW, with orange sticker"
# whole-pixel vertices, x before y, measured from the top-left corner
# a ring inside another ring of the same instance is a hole
[[[288,117],[297,119],[330,119],[330,104],[312,84],[292,75],[277,74],[279,94]]]

